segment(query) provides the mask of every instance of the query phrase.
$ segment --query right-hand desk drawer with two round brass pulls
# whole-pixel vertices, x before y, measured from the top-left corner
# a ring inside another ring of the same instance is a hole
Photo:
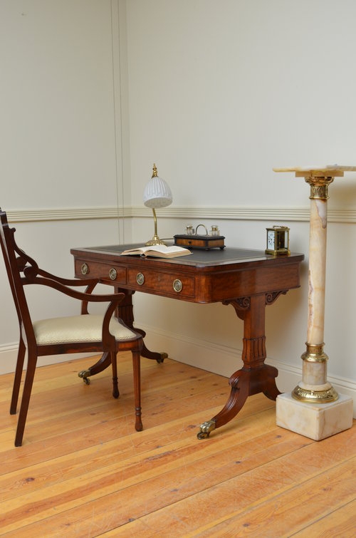
[[[129,269],[127,284],[140,291],[152,291],[164,296],[194,298],[195,294],[194,278],[163,271]]]

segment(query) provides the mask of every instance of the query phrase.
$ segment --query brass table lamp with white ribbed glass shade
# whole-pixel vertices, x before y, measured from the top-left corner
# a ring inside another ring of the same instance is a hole
[[[145,187],[143,202],[145,206],[151,207],[155,222],[155,235],[150,241],[147,241],[146,245],[147,247],[150,247],[154,244],[164,244],[157,235],[157,216],[155,209],[157,209],[157,207],[167,207],[167,205],[171,205],[172,192],[169,189],[167,182],[162,180],[161,177],[158,177],[156,165],[153,165],[152,177]]]

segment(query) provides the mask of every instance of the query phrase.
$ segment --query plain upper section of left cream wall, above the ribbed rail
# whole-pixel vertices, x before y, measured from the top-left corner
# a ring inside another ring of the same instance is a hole
[[[2,205],[112,205],[110,1],[2,0],[0,10]]]

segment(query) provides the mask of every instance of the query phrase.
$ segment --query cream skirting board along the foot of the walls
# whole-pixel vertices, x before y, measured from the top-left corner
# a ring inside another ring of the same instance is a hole
[[[239,370],[243,365],[241,360],[241,349],[228,346],[220,346],[216,343],[188,338],[176,333],[157,331],[157,329],[140,324],[140,327],[147,332],[145,343],[152,351],[166,352],[169,358],[190,366],[196,366],[202,370],[217,373],[220,376],[229,378],[232,373]],[[93,356],[95,353],[88,354]],[[70,359],[85,356],[83,353],[71,353],[70,355],[58,355],[40,357],[38,366],[54,364]],[[17,357],[17,346],[0,346],[0,375],[15,370]],[[142,360],[147,360],[143,358]],[[302,378],[302,368],[296,368],[281,361],[267,358],[266,363],[278,369],[277,386],[283,393],[289,393],[298,385]],[[337,393],[350,396],[354,402],[354,418],[356,418],[356,383],[340,378],[328,376],[328,381],[333,385]]]

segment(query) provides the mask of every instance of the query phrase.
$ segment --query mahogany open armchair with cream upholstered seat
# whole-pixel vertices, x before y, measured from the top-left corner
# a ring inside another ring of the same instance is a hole
[[[23,384],[23,393],[16,429],[15,446],[21,446],[25,429],[28,404],[31,398],[33,377],[39,356],[61,353],[100,352],[110,356],[112,365],[112,395],[118,398],[117,362],[119,351],[131,351],[133,363],[135,393],[135,429],[142,430],[140,397],[140,351],[142,336],[131,331],[122,320],[113,316],[124,294],[93,294],[98,279],[80,280],[62,279],[40,269],[36,262],[17,246],[14,233],[7,222],[6,213],[0,208],[0,242],[4,254],[6,271],[9,276],[11,291],[14,296],[17,316],[19,317],[20,340],[16,363],[14,388],[12,392],[10,413],[16,414],[19,390],[23,371],[23,362],[27,350],[27,368]],[[58,317],[32,321],[24,286],[48,286],[62,294],[81,301],[79,316]],[[77,291],[76,286],[86,286],[85,291]],[[103,315],[89,314],[88,303],[106,302],[108,308]]]

